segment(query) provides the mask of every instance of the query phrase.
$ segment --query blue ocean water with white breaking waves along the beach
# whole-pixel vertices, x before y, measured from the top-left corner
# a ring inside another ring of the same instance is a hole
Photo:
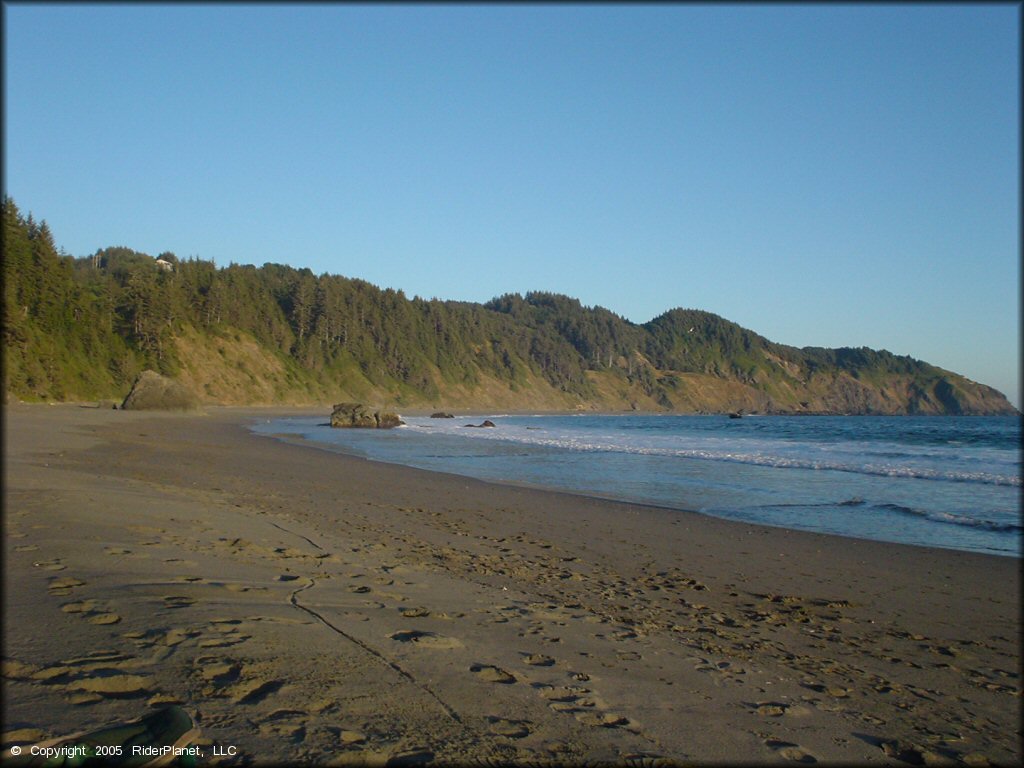
[[[732,520],[1021,556],[1014,417],[404,417],[253,426],[368,459]],[[489,419],[489,429],[469,429]]]

